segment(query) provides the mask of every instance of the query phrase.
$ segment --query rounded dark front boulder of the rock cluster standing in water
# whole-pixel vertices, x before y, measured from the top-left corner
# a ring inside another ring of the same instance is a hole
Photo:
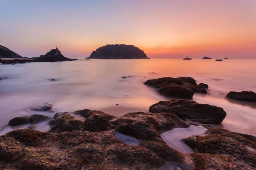
[[[176,96],[187,99],[192,99],[194,95],[194,91],[191,89],[175,84],[165,85],[162,88],[159,88],[157,91],[165,96]]]

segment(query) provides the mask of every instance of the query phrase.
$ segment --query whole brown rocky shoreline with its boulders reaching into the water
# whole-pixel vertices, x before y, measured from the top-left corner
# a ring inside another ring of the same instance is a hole
[[[187,96],[187,91],[189,94],[208,91],[208,85],[197,85],[191,77],[164,77],[148,80],[145,84],[157,88],[160,94],[180,98]],[[30,108],[41,113],[52,112],[52,116],[33,114],[9,121],[9,126],[29,126],[0,136],[0,168],[254,170],[256,167],[255,136],[208,125],[220,124],[226,117],[227,113],[218,106],[176,99],[157,102],[150,106],[148,113],[124,116],[89,109],[54,113],[52,108],[52,104]],[[34,130],[41,122],[49,125],[47,133]],[[204,124],[200,126],[206,128],[204,134],[180,139],[192,153],[170,147],[161,137],[162,133],[199,124]]]

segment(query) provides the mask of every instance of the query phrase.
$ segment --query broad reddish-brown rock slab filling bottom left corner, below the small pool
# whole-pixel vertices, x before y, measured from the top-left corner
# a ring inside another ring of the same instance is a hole
[[[21,129],[0,136],[0,147],[0,161],[17,169],[154,170],[164,164],[153,151],[117,139],[113,130],[49,134]]]

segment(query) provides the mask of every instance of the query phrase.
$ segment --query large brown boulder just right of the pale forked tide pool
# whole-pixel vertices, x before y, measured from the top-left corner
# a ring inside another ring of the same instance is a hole
[[[221,128],[211,128],[203,136],[189,136],[183,139],[183,141],[195,153],[205,153],[205,156],[214,154],[218,159],[227,159],[228,156],[229,159],[236,161],[238,164],[256,167],[255,136],[230,132]],[[227,159],[226,161],[229,160]],[[230,162],[232,163],[232,161]]]

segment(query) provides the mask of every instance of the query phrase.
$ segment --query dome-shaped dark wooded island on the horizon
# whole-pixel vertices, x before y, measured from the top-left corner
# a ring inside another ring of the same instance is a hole
[[[134,45],[107,44],[90,54],[92,59],[148,59],[147,55]]]

